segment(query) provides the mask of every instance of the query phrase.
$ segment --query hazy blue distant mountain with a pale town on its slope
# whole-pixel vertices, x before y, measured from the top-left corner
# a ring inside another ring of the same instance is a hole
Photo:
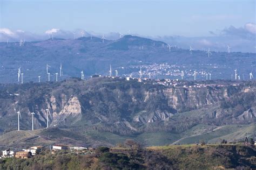
[[[211,51],[211,49],[210,49]],[[124,36],[117,40],[104,42],[97,37],[80,37],[77,39],[49,38],[43,41],[0,43],[0,80],[17,82],[18,68],[21,67],[24,82],[48,80],[46,65],[50,65],[50,80],[55,80],[60,63],[63,67],[64,80],[67,77],[80,77],[93,74],[109,75],[110,65],[122,76],[138,76],[139,67],[143,67],[143,76],[150,72],[153,78],[180,79],[184,70],[185,79],[193,80],[193,71],[198,72],[198,79],[205,79],[206,73],[212,79],[234,79],[237,68],[241,80],[247,80],[249,73],[255,72],[256,54],[240,52],[214,52],[208,58],[206,51],[171,46],[162,41]],[[165,68],[163,67],[165,65]],[[233,74],[233,75],[232,75]]]

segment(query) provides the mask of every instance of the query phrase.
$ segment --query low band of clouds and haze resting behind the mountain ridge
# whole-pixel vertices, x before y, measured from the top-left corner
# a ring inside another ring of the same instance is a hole
[[[82,29],[76,29],[73,31],[51,29],[47,30],[44,34],[31,33],[22,30],[10,30],[6,28],[0,28],[0,42],[17,42],[19,40],[25,41],[43,41],[48,38],[62,38],[62,39],[74,39],[79,37],[98,37],[103,36],[102,33],[96,33],[93,31],[83,31]],[[117,40],[120,36],[125,36],[129,33],[123,32],[110,32],[106,33],[104,37],[108,40]],[[212,51],[227,52],[227,45],[231,46],[231,52],[254,52],[255,53],[255,36],[256,25],[254,23],[246,23],[243,27],[226,27],[223,30],[208,31],[208,36],[201,37],[184,37],[184,36],[141,36],[134,34],[133,36],[150,38],[153,40],[164,41],[172,46],[179,48],[190,48],[192,46],[197,50],[207,50],[211,48]]]

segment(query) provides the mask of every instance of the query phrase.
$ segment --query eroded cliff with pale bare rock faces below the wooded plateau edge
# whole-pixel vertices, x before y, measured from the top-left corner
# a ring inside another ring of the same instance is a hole
[[[138,124],[168,122],[176,114],[218,105],[234,94],[255,93],[254,86],[184,88],[148,86],[144,83],[124,80],[110,81],[103,85],[97,83],[86,85],[84,82],[71,81],[55,87],[42,85],[42,87],[32,86],[18,90],[19,96],[10,96],[6,93],[3,95],[5,97],[0,98],[2,101],[0,121],[14,117],[14,121],[5,124],[5,126],[13,126],[16,113],[10,108],[18,108],[20,105],[25,119],[23,125],[27,127],[31,124],[30,112],[33,107],[36,113],[34,121],[36,128],[46,127],[45,109],[49,109],[50,126],[90,122],[137,131]],[[232,115],[233,110],[217,108],[205,114],[208,114],[211,120],[223,119],[226,115]],[[233,117],[230,116],[230,119],[250,122],[255,118],[255,110],[255,107],[248,108]]]

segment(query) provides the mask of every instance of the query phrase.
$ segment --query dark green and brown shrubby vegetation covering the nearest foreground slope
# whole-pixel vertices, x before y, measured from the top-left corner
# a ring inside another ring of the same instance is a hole
[[[222,169],[256,168],[256,150],[243,145],[98,147],[93,154],[49,151],[30,159],[0,159],[0,169]]]

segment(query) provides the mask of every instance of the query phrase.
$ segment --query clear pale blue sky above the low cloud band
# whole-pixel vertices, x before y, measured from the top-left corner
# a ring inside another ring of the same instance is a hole
[[[52,28],[144,36],[209,36],[255,23],[255,1],[0,0],[0,28],[45,33]]]

